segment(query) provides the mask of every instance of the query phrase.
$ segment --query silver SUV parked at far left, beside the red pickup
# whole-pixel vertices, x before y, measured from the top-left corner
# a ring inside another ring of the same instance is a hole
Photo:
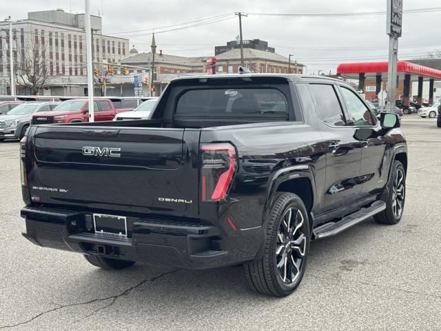
[[[0,115],[0,141],[6,138],[21,139],[30,126],[30,117],[37,112],[48,112],[59,102],[27,102]]]

